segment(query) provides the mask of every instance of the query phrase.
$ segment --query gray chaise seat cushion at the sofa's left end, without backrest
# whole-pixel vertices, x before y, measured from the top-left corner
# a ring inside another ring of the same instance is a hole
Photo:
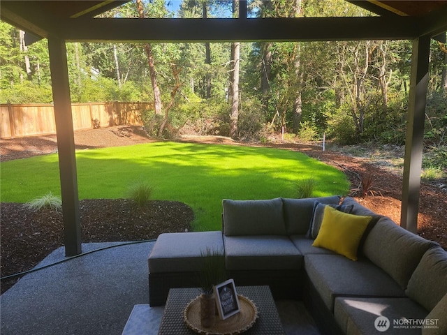
[[[160,234],[147,260],[149,273],[200,271],[207,249],[223,255],[222,232]]]

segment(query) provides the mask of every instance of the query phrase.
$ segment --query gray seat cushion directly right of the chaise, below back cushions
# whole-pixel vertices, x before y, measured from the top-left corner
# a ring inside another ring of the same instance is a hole
[[[300,269],[302,255],[286,236],[224,236],[228,270]]]

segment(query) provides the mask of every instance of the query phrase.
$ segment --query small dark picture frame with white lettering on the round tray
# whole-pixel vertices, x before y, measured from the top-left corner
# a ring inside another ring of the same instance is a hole
[[[214,297],[216,297],[217,310],[221,320],[230,318],[240,312],[239,299],[233,279],[228,279],[218,285],[214,285]]]

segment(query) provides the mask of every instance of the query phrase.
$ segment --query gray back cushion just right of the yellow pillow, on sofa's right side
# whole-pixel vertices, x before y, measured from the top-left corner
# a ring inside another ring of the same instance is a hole
[[[365,239],[363,254],[406,289],[425,251],[435,245],[382,217]]]

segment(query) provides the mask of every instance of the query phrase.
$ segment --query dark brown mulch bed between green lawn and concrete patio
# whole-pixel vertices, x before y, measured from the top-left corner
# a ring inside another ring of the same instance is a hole
[[[1,276],[36,266],[64,244],[62,214],[50,209],[32,211],[13,202],[1,209]],[[182,202],[151,200],[139,207],[127,199],[80,200],[82,242],[140,241],[156,239],[163,232],[191,229],[194,214]],[[17,281],[1,282],[5,292]]]

